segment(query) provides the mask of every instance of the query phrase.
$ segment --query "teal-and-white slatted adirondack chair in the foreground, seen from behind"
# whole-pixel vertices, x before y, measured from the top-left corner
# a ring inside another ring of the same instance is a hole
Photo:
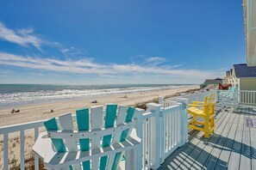
[[[72,113],[51,118],[44,123],[47,131],[34,143],[34,154],[48,168],[104,170],[116,169],[126,152],[134,159],[129,161],[136,162],[134,168],[141,169],[136,157],[141,139],[134,133],[131,136],[137,123],[134,112],[134,107],[108,104],[105,111],[103,106],[93,106],[91,112],[89,108],[77,110],[76,125]]]

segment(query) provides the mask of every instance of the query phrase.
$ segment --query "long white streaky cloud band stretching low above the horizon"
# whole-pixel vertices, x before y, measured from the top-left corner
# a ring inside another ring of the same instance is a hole
[[[205,78],[215,78],[222,75],[220,70],[185,70],[170,66],[150,64],[97,64],[91,58],[83,60],[58,60],[51,58],[32,58],[0,52],[0,65],[20,68],[47,70],[59,73],[96,74],[102,76],[152,76],[177,77],[178,79],[194,79],[202,81]]]

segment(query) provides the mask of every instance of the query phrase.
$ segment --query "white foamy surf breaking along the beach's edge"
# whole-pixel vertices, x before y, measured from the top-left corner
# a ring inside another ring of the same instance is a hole
[[[159,87],[129,87],[129,88],[103,88],[103,89],[61,89],[61,90],[39,90],[32,92],[16,92],[0,94],[0,106],[13,106],[25,103],[41,102],[43,100],[63,100],[78,97],[91,98],[111,94],[130,94],[151,90],[168,88],[184,88],[188,85],[168,85]]]

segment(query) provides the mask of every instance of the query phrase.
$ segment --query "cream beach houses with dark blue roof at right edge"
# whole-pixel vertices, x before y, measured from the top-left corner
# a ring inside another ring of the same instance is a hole
[[[226,71],[223,83],[237,86],[240,90],[256,90],[256,66],[234,64],[231,70]]]

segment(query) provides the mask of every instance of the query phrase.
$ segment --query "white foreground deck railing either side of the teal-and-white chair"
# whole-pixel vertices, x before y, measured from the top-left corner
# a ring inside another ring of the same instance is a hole
[[[188,141],[187,133],[187,100],[177,100],[175,105],[163,107],[159,104],[147,104],[147,111],[137,109],[138,124],[136,132],[142,139],[142,150],[138,157],[142,158],[142,169],[157,169],[165,158],[178,147]],[[75,116],[72,117],[75,120]],[[10,133],[20,137],[20,169],[25,169],[24,131],[34,130],[34,139],[40,130],[45,131],[45,120],[0,127],[3,136],[3,169],[9,169],[9,139]],[[57,118],[57,121],[58,118]],[[31,149],[30,149],[31,150]],[[138,160],[139,161],[139,160]],[[39,158],[34,156],[34,169],[39,169]]]

